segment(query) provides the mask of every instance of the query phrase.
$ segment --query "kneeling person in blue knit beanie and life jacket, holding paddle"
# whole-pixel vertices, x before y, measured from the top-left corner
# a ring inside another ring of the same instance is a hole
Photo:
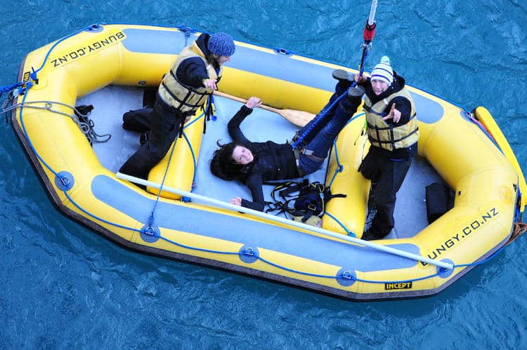
[[[124,129],[150,133],[119,172],[148,178],[150,169],[167,154],[185,121],[218,89],[223,64],[230,61],[234,51],[233,38],[226,33],[201,34],[183,48],[164,75],[153,108],[123,115]]]

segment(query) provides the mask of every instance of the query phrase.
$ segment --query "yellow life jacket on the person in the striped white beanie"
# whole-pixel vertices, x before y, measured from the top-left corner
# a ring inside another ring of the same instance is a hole
[[[412,111],[410,113],[410,121],[401,126],[393,126],[382,120],[384,109],[390,104],[393,98],[402,96],[410,101]],[[419,140],[419,128],[417,128],[417,118],[415,117],[415,104],[410,92],[406,88],[402,88],[396,93],[392,93],[388,97],[380,100],[372,105],[369,97],[365,97],[364,109],[366,112],[367,137],[370,144],[373,146],[393,151],[394,149],[401,149],[410,147]]]

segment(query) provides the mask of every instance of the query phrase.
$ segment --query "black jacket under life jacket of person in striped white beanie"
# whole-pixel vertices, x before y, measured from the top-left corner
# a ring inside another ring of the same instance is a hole
[[[365,93],[367,97],[369,97],[372,101],[372,105],[375,105],[375,103],[388,97],[392,93],[396,93],[397,91],[402,90],[405,87],[405,79],[402,76],[398,76],[396,72],[393,72],[393,83],[391,84],[391,86],[389,86],[386,91],[384,91],[384,93],[380,94],[379,96],[375,95],[375,93],[373,92],[372,84],[370,83],[370,78],[368,78],[367,81],[361,83],[360,85],[365,88]],[[393,126],[401,126],[405,123],[408,123],[408,121],[410,121],[410,116],[412,113],[412,105],[410,105],[410,101],[408,101],[406,97],[395,97],[393,100],[391,100],[391,103],[386,106],[383,112],[388,114],[390,112],[391,105],[393,105],[394,103],[396,105],[396,109],[401,112],[401,119],[399,119],[397,123],[393,123],[393,119],[387,119],[386,123],[389,123]],[[391,152],[387,149],[383,149],[380,147],[375,148],[379,148],[378,151],[382,152],[382,154],[384,154],[384,156],[389,159],[410,159],[417,155],[417,144],[412,144],[412,146],[407,148],[395,149]]]

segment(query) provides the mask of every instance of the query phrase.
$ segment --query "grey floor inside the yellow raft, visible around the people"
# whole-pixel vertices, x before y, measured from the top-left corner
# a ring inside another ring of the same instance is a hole
[[[230,141],[227,123],[242,105],[240,102],[217,96],[214,97],[214,102],[217,119],[207,122],[207,133],[203,135],[198,157],[194,192],[226,202],[235,196],[250,199],[251,194],[247,187],[237,182],[221,180],[210,173],[209,161],[216,149],[216,141],[220,140],[222,143]],[[112,135],[108,142],[94,143],[93,150],[105,168],[117,173],[126,159],[139,147],[139,134],[122,128],[122,114],[131,109],[142,108],[143,90],[108,86],[79,98],[77,105],[93,105],[94,109],[89,117],[95,123],[94,130],[99,135],[107,133]],[[278,114],[254,109],[254,112],[242,123],[242,130],[249,140],[255,142],[266,140],[286,142],[294,135],[297,127]],[[309,175],[308,179],[312,182],[324,182],[325,172],[326,166]],[[433,182],[441,181],[441,177],[427,161],[417,159],[412,162],[403,186],[397,194],[394,214],[396,227],[387,238],[413,236],[427,227],[424,188]],[[268,201],[271,201],[272,189],[272,186],[264,187]]]

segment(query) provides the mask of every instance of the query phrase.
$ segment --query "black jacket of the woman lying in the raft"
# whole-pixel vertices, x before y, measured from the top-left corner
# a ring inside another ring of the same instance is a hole
[[[261,185],[264,181],[286,180],[299,177],[294,152],[290,144],[278,144],[272,141],[250,142],[242,130],[240,124],[245,117],[252,113],[252,109],[242,106],[228,123],[230,137],[236,142],[244,142],[249,145],[254,161],[244,168],[245,175],[242,182],[249,187],[252,201],[242,199],[242,206],[254,210],[263,210],[263,191]]]

